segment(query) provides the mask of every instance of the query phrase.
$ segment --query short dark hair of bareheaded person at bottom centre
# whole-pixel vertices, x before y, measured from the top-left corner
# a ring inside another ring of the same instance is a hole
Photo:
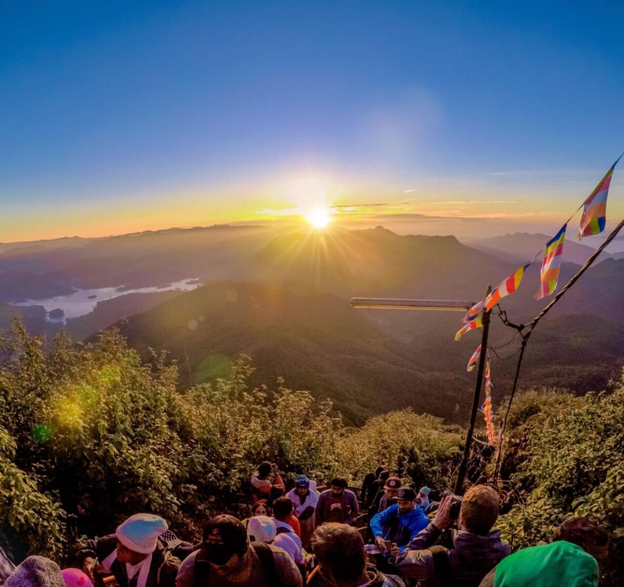
[[[331,581],[357,581],[366,566],[364,540],[353,526],[326,523],[314,530],[314,555],[323,575]]]

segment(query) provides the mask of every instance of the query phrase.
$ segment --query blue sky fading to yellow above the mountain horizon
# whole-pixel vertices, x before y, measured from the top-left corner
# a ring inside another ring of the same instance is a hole
[[[624,3],[500,4],[5,4],[0,241],[264,220],[310,177],[556,224],[624,150]]]

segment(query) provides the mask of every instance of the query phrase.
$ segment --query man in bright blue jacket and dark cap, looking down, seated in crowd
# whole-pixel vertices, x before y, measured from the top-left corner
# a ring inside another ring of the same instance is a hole
[[[416,538],[421,530],[429,525],[429,518],[419,505],[414,505],[416,493],[410,487],[401,487],[396,494],[397,503],[376,513],[371,519],[371,531],[375,543],[381,550],[378,556],[378,567],[383,571],[392,570],[388,564],[390,551],[386,542],[393,542],[402,551]]]

